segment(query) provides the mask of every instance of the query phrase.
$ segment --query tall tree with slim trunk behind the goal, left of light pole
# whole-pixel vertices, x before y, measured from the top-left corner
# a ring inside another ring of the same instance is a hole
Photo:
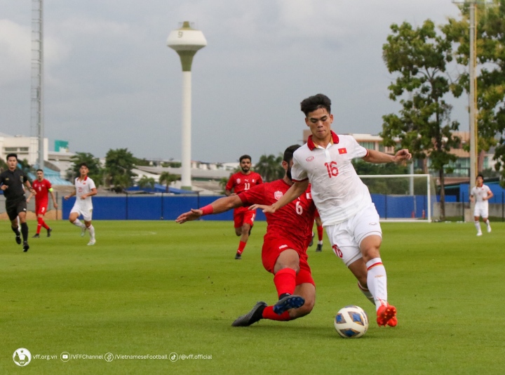
[[[430,168],[438,171],[440,182],[440,218],[445,220],[445,172],[451,161],[450,154],[460,140],[452,131],[459,129],[459,122],[450,121],[452,106],[445,101],[451,92],[462,93],[459,84],[447,74],[447,64],[452,61],[451,43],[436,32],[431,20],[422,27],[413,29],[408,22],[391,25],[383,46],[384,62],[390,73],[398,73],[396,81],[389,86],[389,98],[400,99],[400,114],[386,114],[383,118],[381,136],[384,145],[395,146],[399,138],[401,147],[406,147],[417,159],[429,157]]]

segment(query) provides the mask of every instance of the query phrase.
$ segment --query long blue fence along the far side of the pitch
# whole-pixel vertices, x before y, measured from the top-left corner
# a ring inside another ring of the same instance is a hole
[[[94,220],[175,220],[180,213],[197,209],[214,202],[216,196],[174,196],[174,195],[122,195],[113,197],[93,197]],[[433,197],[433,202],[435,198]],[[381,218],[422,218],[427,211],[426,196],[394,196],[372,194],[372,201]],[[62,201],[62,217],[69,217],[75,197]],[[432,203],[433,203],[432,202]],[[206,216],[206,220],[233,220],[233,211]],[[256,212],[256,220],[264,221],[261,210]]]

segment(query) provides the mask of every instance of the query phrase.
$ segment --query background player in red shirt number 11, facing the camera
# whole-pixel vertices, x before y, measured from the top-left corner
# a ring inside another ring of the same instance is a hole
[[[242,155],[238,161],[240,162],[242,171],[234,173],[229,178],[224,188],[224,194],[227,196],[238,195],[255,185],[263,183],[260,174],[250,170],[251,157],[249,155]],[[231,192],[231,190],[233,190],[233,192]],[[242,252],[245,249],[245,244],[247,244],[250,230],[253,228],[255,216],[256,210],[250,210],[248,207],[238,207],[234,209],[235,234],[241,237],[235,259],[242,258]]]

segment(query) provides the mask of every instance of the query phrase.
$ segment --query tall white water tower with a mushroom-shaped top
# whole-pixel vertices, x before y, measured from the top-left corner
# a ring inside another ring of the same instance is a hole
[[[182,65],[182,189],[191,190],[191,63],[196,51],[205,47],[203,32],[184,21],[180,29],[168,35],[167,46],[173,48]]]

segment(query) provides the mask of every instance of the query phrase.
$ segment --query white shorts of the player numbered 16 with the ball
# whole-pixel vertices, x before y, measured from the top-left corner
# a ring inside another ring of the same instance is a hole
[[[373,203],[349,220],[325,228],[333,252],[348,267],[359,258],[363,258],[359,246],[365,237],[377,235],[382,238],[379,213]]]

